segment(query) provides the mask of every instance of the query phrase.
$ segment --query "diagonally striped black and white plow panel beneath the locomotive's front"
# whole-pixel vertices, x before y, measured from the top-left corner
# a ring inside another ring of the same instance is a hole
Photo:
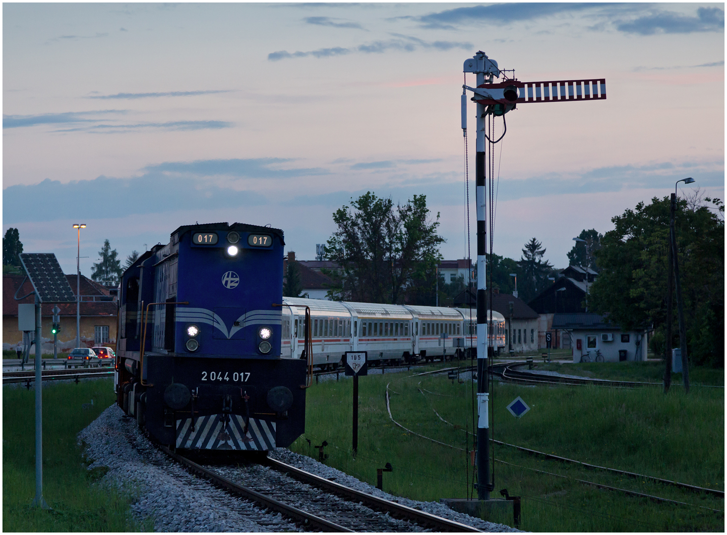
[[[211,414],[177,420],[177,448],[184,449],[275,449],[275,422],[245,418],[238,414]]]

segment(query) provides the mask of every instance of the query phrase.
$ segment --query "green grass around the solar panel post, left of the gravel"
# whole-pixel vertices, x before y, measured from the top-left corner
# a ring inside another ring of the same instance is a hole
[[[81,405],[94,400],[90,410]],[[87,470],[76,436],[114,401],[110,379],[43,385],[43,496],[35,497],[35,391],[3,388],[3,531],[138,531],[131,494],[94,485],[103,468]],[[150,526],[144,526],[150,528]]]

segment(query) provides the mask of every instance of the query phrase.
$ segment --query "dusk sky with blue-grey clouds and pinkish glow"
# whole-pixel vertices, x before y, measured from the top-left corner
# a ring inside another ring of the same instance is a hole
[[[270,224],[313,259],[372,191],[427,195],[464,258],[478,50],[608,95],[506,115],[496,253],[536,237],[564,267],[582,229],[686,176],[724,198],[724,4],[4,4],[3,232],[69,273],[73,223],[84,274],[105,239],[125,258],[195,221]]]

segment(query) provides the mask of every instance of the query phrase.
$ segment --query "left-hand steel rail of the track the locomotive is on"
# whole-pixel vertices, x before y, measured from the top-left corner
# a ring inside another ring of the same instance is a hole
[[[169,457],[172,457],[172,459],[180,462],[182,465],[185,465],[190,470],[198,473],[202,477],[209,479],[217,486],[233,492],[234,494],[245,497],[246,499],[251,499],[253,502],[257,502],[258,504],[262,505],[262,507],[266,507],[274,512],[279,512],[281,513],[281,515],[284,515],[287,518],[292,518],[293,520],[302,523],[307,528],[314,528],[319,531],[326,531],[330,533],[353,533],[353,530],[329,522],[328,520],[320,518],[316,515],[311,515],[310,512],[302,511],[300,509],[297,509],[297,507],[292,507],[290,505],[284,504],[283,502],[279,502],[275,498],[265,496],[265,494],[260,494],[260,492],[248,489],[247,487],[242,485],[238,485],[238,483],[235,483],[234,481],[225,478],[223,475],[220,475],[213,470],[209,470],[204,466],[198,465],[196,462],[189,460],[187,457],[182,457],[182,455],[172,452],[172,450],[170,450],[166,446],[160,447],[162,451],[164,451],[164,453],[169,455]]]

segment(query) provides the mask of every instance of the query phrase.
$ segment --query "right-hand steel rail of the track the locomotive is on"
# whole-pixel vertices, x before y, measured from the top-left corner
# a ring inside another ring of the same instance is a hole
[[[335,481],[330,481],[326,478],[321,478],[318,475],[288,465],[285,462],[271,459],[270,457],[265,460],[265,464],[274,468],[275,470],[287,473],[288,475],[291,475],[299,481],[303,481],[304,483],[308,483],[309,485],[316,486],[319,489],[323,489],[333,494],[337,494],[341,497],[344,497],[345,499],[350,499],[356,502],[363,502],[364,505],[366,505],[367,507],[371,507],[371,509],[383,510],[390,513],[390,515],[396,515],[399,518],[414,520],[414,522],[416,522],[420,526],[427,526],[434,529],[435,531],[467,531],[470,533],[481,532],[481,530],[473,528],[473,526],[467,526],[467,524],[462,524],[454,520],[448,520],[437,515],[432,515],[428,512],[419,511],[417,509],[414,509],[413,507],[406,507],[406,505],[390,502],[387,499],[379,498],[371,494],[366,494],[366,492],[350,489],[348,486],[336,483]]]

